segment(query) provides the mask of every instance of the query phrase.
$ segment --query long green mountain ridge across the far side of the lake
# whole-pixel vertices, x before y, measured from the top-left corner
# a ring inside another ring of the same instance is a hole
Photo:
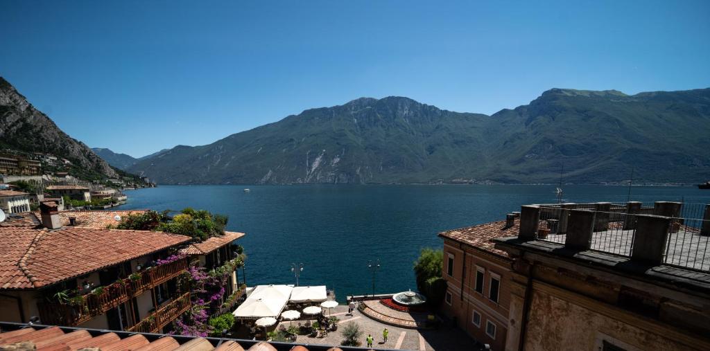
[[[492,116],[361,98],[178,145],[130,172],[163,184],[699,182],[710,177],[710,89],[550,89]],[[188,166],[189,165],[189,166]]]

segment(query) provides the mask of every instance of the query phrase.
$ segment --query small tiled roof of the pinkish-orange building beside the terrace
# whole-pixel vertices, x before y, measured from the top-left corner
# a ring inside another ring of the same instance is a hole
[[[442,238],[464,243],[485,250],[501,257],[508,257],[508,252],[498,250],[491,241],[493,238],[518,235],[520,218],[515,218],[515,224],[506,228],[506,221],[497,221],[474,225],[472,227],[447,230],[439,233]]]

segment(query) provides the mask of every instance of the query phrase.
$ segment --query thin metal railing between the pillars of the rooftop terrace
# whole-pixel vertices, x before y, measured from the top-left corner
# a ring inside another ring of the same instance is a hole
[[[628,202],[543,204],[535,205],[535,208],[535,239],[623,257],[646,254],[638,252],[634,255],[639,220],[643,218],[643,223],[657,221],[663,232],[658,238],[662,240],[663,250],[660,263],[710,272],[708,204]],[[643,230],[649,229],[644,226]],[[658,228],[651,230],[657,231]],[[572,238],[568,238],[568,233]],[[648,238],[643,240],[648,244]],[[650,250],[648,245],[642,247]]]

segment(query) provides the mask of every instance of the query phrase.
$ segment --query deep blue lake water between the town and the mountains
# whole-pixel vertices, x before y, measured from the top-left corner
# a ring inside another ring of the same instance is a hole
[[[413,262],[422,247],[442,247],[437,233],[500,221],[523,204],[555,203],[555,186],[300,185],[160,186],[126,191],[121,209],[179,210],[190,206],[229,216],[229,230],[246,233],[246,279],[295,284],[290,263],[305,268],[300,285],[370,294],[370,260],[380,260],[376,292],[415,289]],[[569,202],[627,200],[624,186],[565,186]],[[710,204],[697,187],[633,186],[632,201]],[[241,272],[240,272],[241,274]]]

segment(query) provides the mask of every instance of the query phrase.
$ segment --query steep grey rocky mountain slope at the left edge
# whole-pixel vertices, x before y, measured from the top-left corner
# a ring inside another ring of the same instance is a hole
[[[87,145],[71,138],[0,77],[0,148],[48,152],[70,160],[82,171],[116,177],[109,164]]]

